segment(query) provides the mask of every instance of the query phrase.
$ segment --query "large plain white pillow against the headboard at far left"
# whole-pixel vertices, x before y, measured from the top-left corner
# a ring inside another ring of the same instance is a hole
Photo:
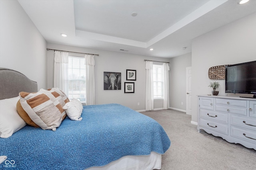
[[[26,122],[16,110],[16,104],[20,96],[0,100],[0,137],[8,138],[13,133],[26,126]]]

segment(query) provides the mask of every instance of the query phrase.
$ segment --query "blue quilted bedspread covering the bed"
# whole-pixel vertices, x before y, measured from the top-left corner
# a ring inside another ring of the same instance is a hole
[[[0,156],[14,160],[12,166],[20,170],[83,170],[126,155],[164,154],[170,147],[158,122],[128,107],[84,106],[82,117],[82,121],[66,117],[56,131],[27,125],[7,139],[0,138]],[[4,165],[0,169],[12,169]]]

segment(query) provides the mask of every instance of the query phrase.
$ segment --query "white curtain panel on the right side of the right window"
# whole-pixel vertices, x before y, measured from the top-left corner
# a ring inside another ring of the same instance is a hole
[[[169,70],[170,70],[170,67],[168,66],[168,63],[163,63],[163,70],[164,70],[164,72],[163,72],[164,109],[169,109]]]

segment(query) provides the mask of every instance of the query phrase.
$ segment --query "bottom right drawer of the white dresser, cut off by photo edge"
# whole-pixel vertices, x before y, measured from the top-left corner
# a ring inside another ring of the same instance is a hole
[[[231,134],[230,135],[232,137],[242,139],[244,141],[256,143],[256,132],[255,131],[240,129],[240,128],[231,126]]]

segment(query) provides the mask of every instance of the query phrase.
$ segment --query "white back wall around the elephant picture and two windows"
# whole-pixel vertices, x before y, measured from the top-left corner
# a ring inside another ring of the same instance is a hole
[[[80,53],[99,54],[95,56],[95,102],[96,104],[118,103],[130,107],[134,110],[145,109],[146,96],[146,69],[145,61],[156,60],[169,62],[170,59],[159,57],[149,57],[143,55],[132,55],[127,53],[118,53],[113,51],[104,51],[82,47],[73,47],[68,45],[59,45],[48,43],[47,48],[64,51],[74,51]],[[82,55],[83,56],[83,55]],[[53,87],[53,70],[54,70],[54,51],[47,52],[47,88]],[[126,69],[136,70],[136,81],[126,81]],[[122,85],[121,90],[103,90],[103,72],[121,72]],[[124,93],[124,82],[135,82],[135,93]],[[138,103],[140,105],[138,106]],[[154,108],[162,108],[162,100],[154,102]]]

